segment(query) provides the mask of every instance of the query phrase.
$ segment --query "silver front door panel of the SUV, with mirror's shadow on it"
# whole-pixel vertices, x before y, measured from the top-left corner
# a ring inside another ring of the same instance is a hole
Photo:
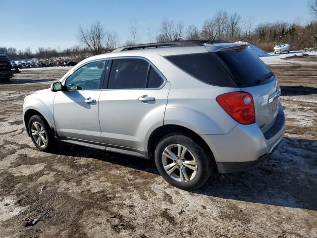
[[[103,143],[98,117],[100,93],[101,90],[56,93],[53,113],[58,136]]]

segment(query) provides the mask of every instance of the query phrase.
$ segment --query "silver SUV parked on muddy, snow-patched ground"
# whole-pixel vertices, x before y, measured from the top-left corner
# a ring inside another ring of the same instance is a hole
[[[81,61],[24,99],[23,120],[41,151],[58,139],[154,159],[167,182],[193,190],[273,152],[285,132],[279,96],[246,45],[151,44]]]

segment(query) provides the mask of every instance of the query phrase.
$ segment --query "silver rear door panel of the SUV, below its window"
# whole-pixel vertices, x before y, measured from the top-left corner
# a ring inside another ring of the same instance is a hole
[[[103,90],[99,99],[103,141],[144,151],[147,132],[163,125],[169,88],[167,82],[161,89]]]

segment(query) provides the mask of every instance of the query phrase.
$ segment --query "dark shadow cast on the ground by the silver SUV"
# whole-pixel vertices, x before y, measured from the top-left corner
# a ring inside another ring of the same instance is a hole
[[[317,210],[316,146],[315,140],[284,138],[279,148],[252,170],[215,173],[193,192],[243,202]],[[59,143],[55,153],[98,159],[159,175],[153,161],[138,157],[67,143]]]

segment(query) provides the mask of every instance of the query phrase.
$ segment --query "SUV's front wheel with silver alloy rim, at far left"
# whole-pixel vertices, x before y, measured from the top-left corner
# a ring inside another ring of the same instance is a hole
[[[53,149],[55,139],[46,120],[39,115],[34,115],[29,119],[28,125],[29,134],[34,145],[41,151],[51,151]]]

